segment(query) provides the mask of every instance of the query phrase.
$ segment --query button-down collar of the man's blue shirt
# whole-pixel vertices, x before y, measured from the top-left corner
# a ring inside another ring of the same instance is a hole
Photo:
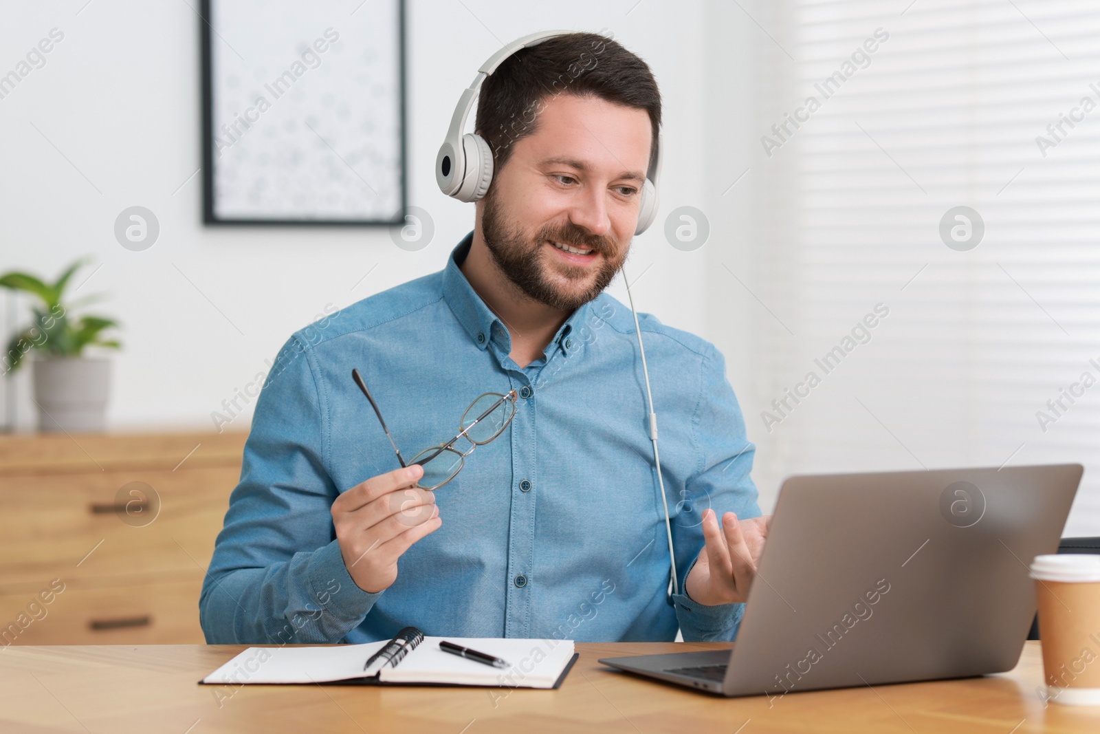
[[[512,339],[508,336],[508,330],[501,319],[488,309],[485,302],[482,300],[481,296],[473,289],[473,286],[470,285],[470,281],[459,270],[459,265],[470,253],[473,239],[473,232],[466,234],[447,259],[447,267],[443,269],[443,299],[447,300],[447,305],[450,306],[454,317],[479,349],[487,348],[495,335],[498,335],[497,339],[502,340],[502,346],[510,349]],[[570,333],[573,331],[574,325],[583,324],[588,307],[590,304],[584,304],[565,319],[565,322],[558,329],[553,339],[547,344],[544,353],[548,358],[554,349],[561,349],[565,353],[572,353],[578,350],[581,340],[573,339],[570,337]]]

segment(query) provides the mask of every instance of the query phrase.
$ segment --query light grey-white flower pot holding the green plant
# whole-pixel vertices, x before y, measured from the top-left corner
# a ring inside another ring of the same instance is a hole
[[[106,357],[34,354],[38,430],[92,432],[106,425],[111,361]]]

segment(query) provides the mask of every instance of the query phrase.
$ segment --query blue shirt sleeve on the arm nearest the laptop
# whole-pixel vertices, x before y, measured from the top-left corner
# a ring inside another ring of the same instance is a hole
[[[714,347],[702,360],[700,372],[700,397],[692,419],[698,465],[684,486],[691,511],[681,505],[680,522],[672,525],[681,591],[672,595],[672,603],[685,640],[733,640],[745,604],[700,604],[688,596],[684,583],[703,549],[703,511],[710,507],[719,518],[725,512],[736,513],[739,519],[760,515],[749,476],[756,447],[748,440],[745,418],[726,379],[726,361]]]

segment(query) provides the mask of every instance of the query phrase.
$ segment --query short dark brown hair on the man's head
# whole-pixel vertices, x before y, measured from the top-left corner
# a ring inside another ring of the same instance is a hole
[[[543,100],[562,92],[646,110],[653,155],[661,92],[649,66],[605,35],[566,33],[517,51],[482,84],[475,130],[493,151],[494,169],[507,163],[517,140],[538,129]]]

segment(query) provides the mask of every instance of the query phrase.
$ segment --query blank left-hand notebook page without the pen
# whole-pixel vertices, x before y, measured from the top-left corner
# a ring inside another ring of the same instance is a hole
[[[311,683],[362,678],[367,658],[387,642],[336,647],[250,647],[202,682]]]

